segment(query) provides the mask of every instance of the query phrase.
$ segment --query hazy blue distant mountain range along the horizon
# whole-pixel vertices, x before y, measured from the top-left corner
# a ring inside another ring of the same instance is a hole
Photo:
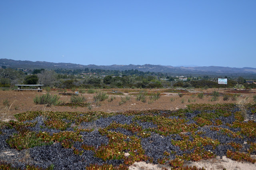
[[[22,69],[105,69],[105,70],[129,70],[137,69],[139,71],[150,71],[150,72],[161,72],[161,73],[191,73],[191,74],[233,74],[233,73],[249,73],[256,74],[256,68],[252,67],[173,67],[169,65],[81,65],[73,63],[51,63],[46,61],[21,61],[13,59],[0,59],[0,67],[4,65],[6,67],[12,68],[22,68]]]

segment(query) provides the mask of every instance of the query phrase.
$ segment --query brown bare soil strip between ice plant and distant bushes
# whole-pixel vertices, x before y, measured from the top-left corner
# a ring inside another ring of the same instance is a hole
[[[146,89],[148,93],[157,93],[160,92],[161,96],[160,99],[154,101],[151,104],[148,104],[149,97],[147,97],[146,103],[142,101],[136,101],[136,93],[142,91],[142,89],[118,89],[123,94],[122,95],[115,95],[114,93],[111,94],[112,89],[104,89],[102,91],[109,93],[109,98],[111,96],[115,96],[112,102],[108,102],[107,100],[100,102],[101,106],[96,106],[94,102],[94,94],[87,94],[82,93],[86,97],[87,101],[91,103],[92,109],[89,110],[88,107],[68,107],[68,106],[50,106],[46,107],[45,105],[36,105],[33,99],[36,96],[40,96],[42,94],[46,94],[47,92],[43,90],[42,92],[37,91],[0,91],[0,120],[6,119],[15,119],[14,115],[17,113],[24,113],[26,111],[38,111],[38,110],[46,110],[46,111],[71,111],[71,112],[86,112],[86,111],[103,111],[103,112],[125,112],[125,111],[143,111],[143,110],[175,110],[180,108],[186,108],[186,105],[195,104],[195,103],[209,103],[209,104],[216,104],[216,103],[236,103],[237,101],[232,101],[231,99],[228,101],[224,101],[223,97],[218,97],[217,101],[210,101],[211,96],[205,95],[203,99],[199,99],[197,97],[198,93],[212,93],[213,91],[218,91],[219,93],[225,93],[226,91],[231,91],[231,89],[194,89],[193,91],[185,91],[184,96],[179,97],[178,93],[168,93],[168,89]],[[233,91],[240,95],[240,97],[248,97],[248,103],[252,103],[252,97],[256,95],[256,90],[250,90],[250,93],[239,93],[239,91]],[[59,95],[60,92],[56,90],[50,91],[52,95]],[[67,91],[67,93],[74,93],[72,91]],[[132,94],[132,95],[130,95]],[[195,97],[193,98],[193,94]],[[230,93],[229,93],[230,94]],[[130,96],[130,100],[122,105],[119,105],[121,101],[121,97],[125,97],[126,95]],[[59,95],[60,100],[65,101],[66,103],[70,102],[69,95]],[[8,99],[10,106],[4,106],[4,100]],[[174,101],[171,101],[174,99]],[[182,103],[182,99],[184,99],[184,103]],[[195,100],[195,101],[194,101]]]

